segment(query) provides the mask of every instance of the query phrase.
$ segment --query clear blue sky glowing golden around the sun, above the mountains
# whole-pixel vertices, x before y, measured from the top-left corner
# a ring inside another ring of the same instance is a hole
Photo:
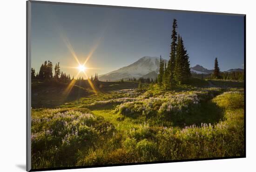
[[[87,74],[108,73],[143,56],[169,59],[173,19],[189,53],[190,66],[221,71],[243,68],[243,17],[206,13],[85,7],[32,3],[32,67],[45,60],[60,62],[76,75],[74,53],[86,63]],[[82,76],[82,75],[80,75]]]

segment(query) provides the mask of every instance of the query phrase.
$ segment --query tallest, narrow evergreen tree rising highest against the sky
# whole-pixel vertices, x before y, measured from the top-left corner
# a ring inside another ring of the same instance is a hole
[[[173,20],[173,26],[172,26],[173,30],[172,30],[172,35],[171,35],[171,52],[170,52],[170,59],[168,60],[168,66],[167,66],[167,76],[169,76],[169,78],[166,80],[166,84],[168,86],[170,85],[174,85],[174,69],[175,69],[175,56],[176,56],[176,41],[177,41],[177,32],[176,32],[176,28],[177,28],[177,20],[174,19]]]

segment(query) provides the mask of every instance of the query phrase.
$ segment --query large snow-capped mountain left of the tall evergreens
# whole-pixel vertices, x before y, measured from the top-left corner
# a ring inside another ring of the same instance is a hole
[[[167,63],[164,60],[164,63]],[[119,80],[119,79],[129,79],[129,78],[154,78],[159,73],[160,58],[145,56],[137,60],[135,63],[122,67],[118,70],[106,73],[99,76],[99,80]]]

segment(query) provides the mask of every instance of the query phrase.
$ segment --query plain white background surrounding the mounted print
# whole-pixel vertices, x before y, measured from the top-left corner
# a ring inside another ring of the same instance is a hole
[[[55,0],[52,0],[55,1]],[[256,113],[254,110],[256,67],[256,10],[253,0],[59,0],[87,4],[149,7],[246,16],[246,155],[243,159],[222,159],[151,165],[129,165],[65,170],[61,172],[131,171],[255,171]],[[0,3],[0,171],[26,169],[26,1]]]

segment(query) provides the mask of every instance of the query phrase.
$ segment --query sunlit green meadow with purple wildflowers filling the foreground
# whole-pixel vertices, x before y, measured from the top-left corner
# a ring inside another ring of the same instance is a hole
[[[51,102],[32,108],[32,168],[244,156],[243,82],[194,83],[99,82],[97,93],[78,83],[71,94],[83,94],[61,104],[47,90]]]

